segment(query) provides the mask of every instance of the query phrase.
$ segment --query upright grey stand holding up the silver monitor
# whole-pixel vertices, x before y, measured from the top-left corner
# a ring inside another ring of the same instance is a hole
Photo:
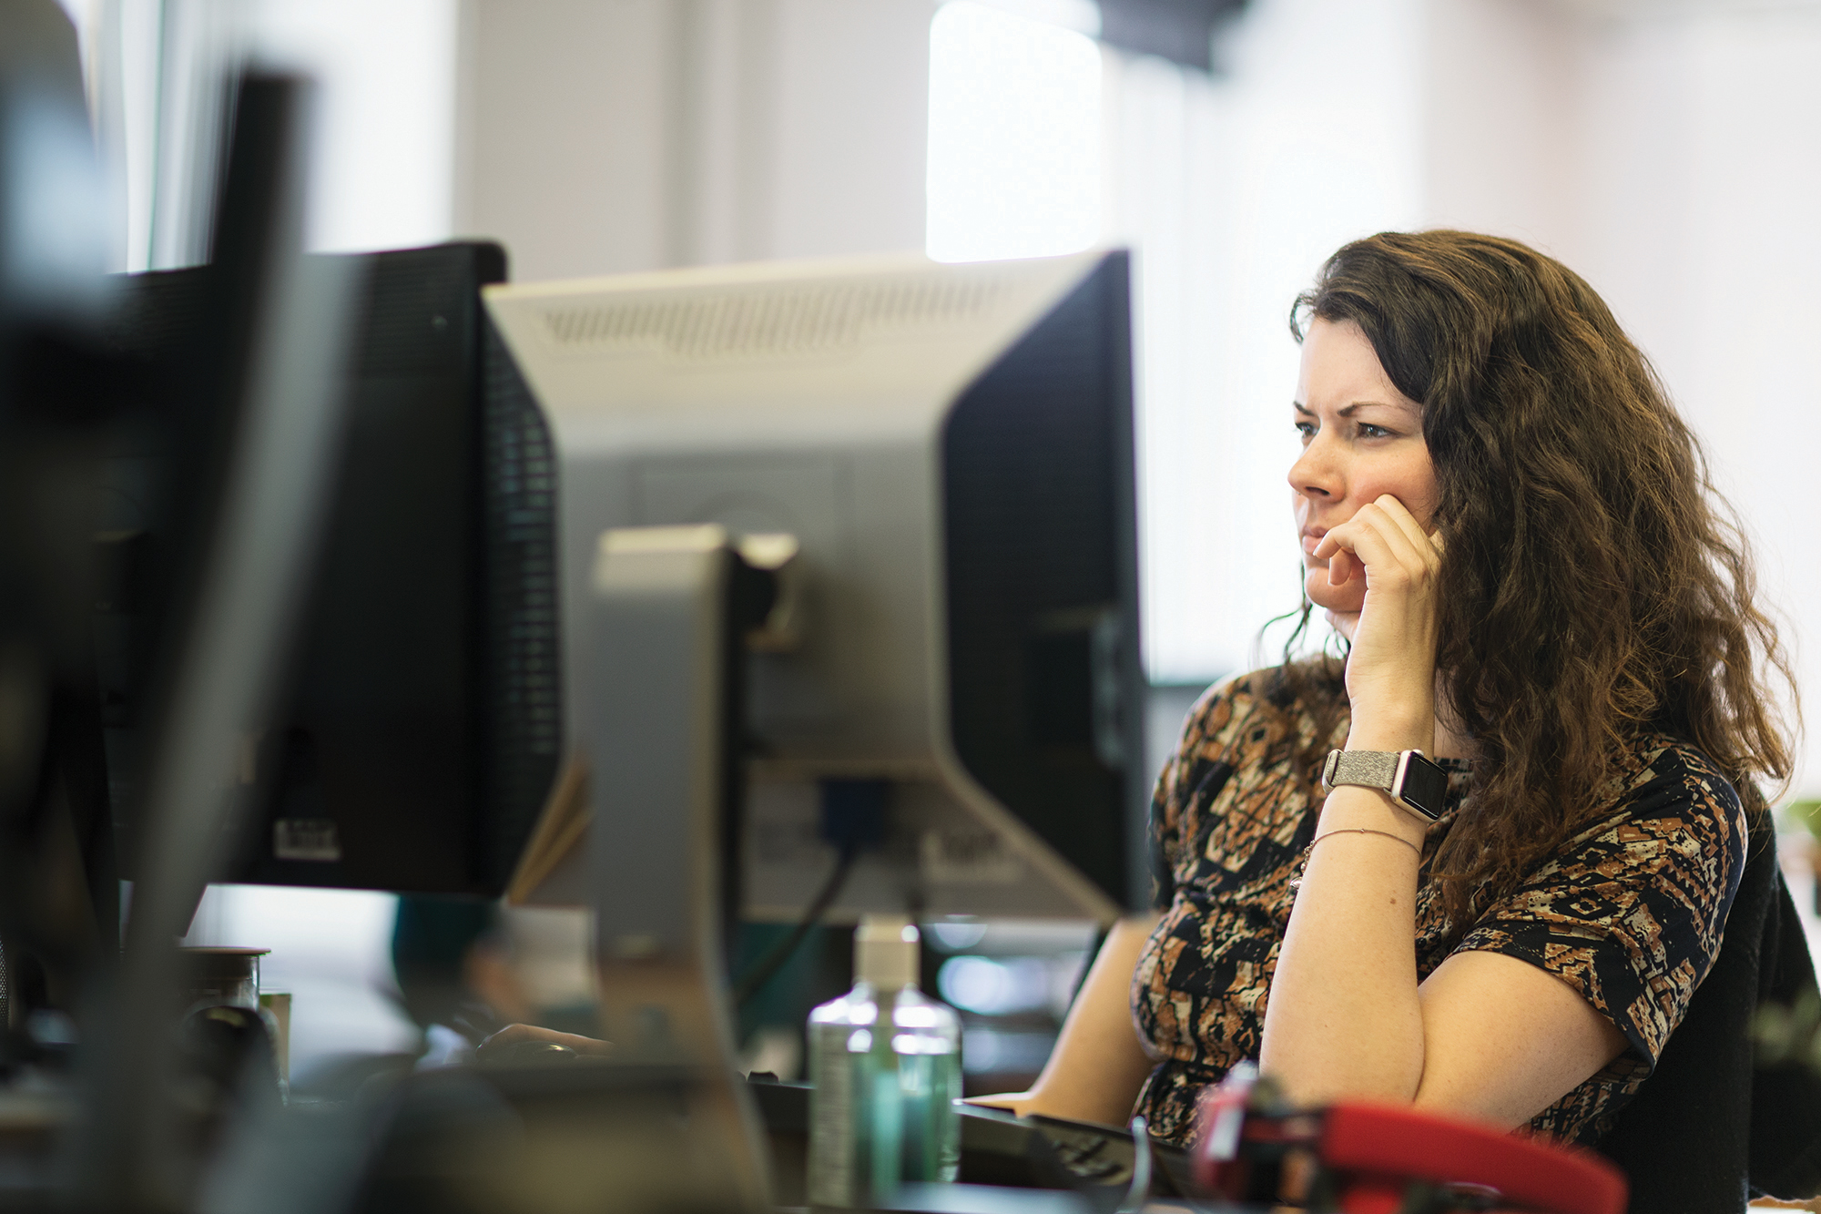
[[[588,618],[590,886],[601,1028],[625,1066],[694,1066],[690,1119],[748,1209],[770,1205],[763,1128],[736,1070],[727,922],[738,911],[730,762],[741,616],[768,609],[717,525],[601,534]],[[768,587],[767,587],[768,589]],[[754,616],[756,622],[758,616]]]

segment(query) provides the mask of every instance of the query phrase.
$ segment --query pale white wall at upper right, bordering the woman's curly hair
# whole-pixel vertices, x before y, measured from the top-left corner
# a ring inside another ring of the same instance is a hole
[[[1431,0],[1428,222],[1517,235],[1612,304],[1706,443],[1821,705],[1821,5],[1624,20]],[[1797,791],[1821,793],[1821,729]]]

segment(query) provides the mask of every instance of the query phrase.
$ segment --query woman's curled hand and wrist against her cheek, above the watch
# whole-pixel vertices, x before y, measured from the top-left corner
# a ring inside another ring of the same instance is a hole
[[[1329,612],[1353,642],[1349,747],[1431,749],[1435,738],[1435,572],[1440,538],[1384,494],[1322,536],[1329,585],[1366,580],[1358,614]]]

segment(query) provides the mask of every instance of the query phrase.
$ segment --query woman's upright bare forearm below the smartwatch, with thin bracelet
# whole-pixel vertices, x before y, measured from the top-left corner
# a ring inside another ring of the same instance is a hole
[[[1424,824],[1382,793],[1338,787],[1317,838],[1271,979],[1260,1070],[1297,1103],[1409,1101],[1424,1065],[1415,948]]]

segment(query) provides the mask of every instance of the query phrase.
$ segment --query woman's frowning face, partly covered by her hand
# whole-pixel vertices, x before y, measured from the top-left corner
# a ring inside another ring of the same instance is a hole
[[[1328,560],[1313,556],[1315,545],[1382,494],[1428,527],[1437,490],[1422,408],[1391,385],[1358,324],[1315,319],[1302,339],[1293,410],[1302,456],[1289,467],[1289,489],[1304,587],[1317,607],[1353,614],[1366,598],[1366,580],[1328,585]]]

